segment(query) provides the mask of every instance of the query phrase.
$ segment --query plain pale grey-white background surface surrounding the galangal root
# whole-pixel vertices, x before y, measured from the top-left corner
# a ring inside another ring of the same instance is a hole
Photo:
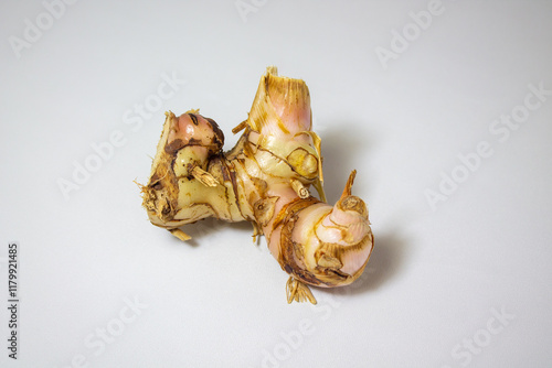
[[[410,13],[427,1],[45,3],[0,6],[0,306],[9,241],[21,300],[17,361],[0,309],[0,366],[550,366],[551,2],[443,0],[425,30]],[[268,65],[310,88],[328,199],[357,169],[373,224],[364,277],[315,289],[317,306],[287,304],[248,224],[205,220],[183,243],[132,182],[166,110],[201,108],[231,148]],[[180,82],[161,99],[163,76]]]

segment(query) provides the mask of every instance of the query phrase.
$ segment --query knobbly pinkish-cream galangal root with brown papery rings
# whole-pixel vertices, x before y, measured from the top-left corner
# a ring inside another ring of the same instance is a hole
[[[332,288],[353,282],[373,249],[364,202],[351,194],[355,171],[335,206],[325,203],[320,138],[311,129],[305,82],[261,78],[236,145],[222,152],[224,136],[212,119],[190,110],[167,113],[144,206],[151,223],[182,240],[180,226],[214,216],[248,220],[254,239],[268,248],[289,275],[288,302],[316,300],[308,284]],[[320,199],[309,193],[312,185]]]

